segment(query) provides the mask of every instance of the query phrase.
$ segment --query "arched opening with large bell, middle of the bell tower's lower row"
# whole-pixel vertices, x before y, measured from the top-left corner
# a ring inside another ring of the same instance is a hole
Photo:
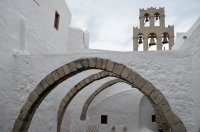
[[[157,35],[155,33],[148,35],[148,50],[157,50]]]

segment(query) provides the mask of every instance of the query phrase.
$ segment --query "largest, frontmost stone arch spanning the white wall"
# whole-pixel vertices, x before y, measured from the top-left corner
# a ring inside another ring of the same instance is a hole
[[[48,74],[30,93],[15,121],[13,131],[28,131],[35,111],[44,98],[63,81],[89,69],[110,71],[119,76],[122,80],[134,85],[138,90],[142,90],[143,94],[145,94],[159,110],[159,113],[163,113],[173,132],[186,132],[183,122],[172,112],[163,94],[160,93],[149,81],[145,80],[139,74],[122,64],[102,58],[78,59],[63,65]]]

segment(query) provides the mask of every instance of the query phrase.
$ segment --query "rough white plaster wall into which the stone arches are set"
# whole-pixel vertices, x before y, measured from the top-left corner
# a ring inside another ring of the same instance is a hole
[[[152,82],[166,96],[172,110],[180,116],[185,123],[188,132],[193,132],[195,123],[194,100],[191,90],[191,54],[184,51],[160,51],[160,52],[106,52],[85,51],[83,53],[66,55],[17,55],[11,56],[8,67],[1,67],[1,96],[0,96],[0,130],[10,131],[13,127],[21,107],[31,90],[45,77],[59,66],[82,57],[102,57],[133,68],[140,75]],[[3,59],[1,58],[1,61]],[[56,130],[56,116],[59,101],[65,92],[75,85],[83,77],[96,71],[88,71],[79,74],[66,83],[59,85],[41,104],[30,127],[30,131]],[[8,81],[9,80],[9,81]],[[97,85],[98,84],[98,85]],[[102,82],[88,88],[96,88]],[[93,89],[95,90],[95,89]],[[64,92],[65,91],[65,92]],[[80,131],[84,129],[85,123],[79,119],[80,108],[86,100],[90,89],[79,94],[78,99],[71,105],[70,115],[73,120],[70,129]],[[114,92],[113,92],[114,93]],[[107,96],[108,97],[108,96]],[[78,107],[77,107],[78,106]],[[119,109],[123,111],[123,109]],[[102,111],[96,111],[101,113]],[[131,113],[132,111],[130,111]],[[126,113],[129,115],[129,112]],[[74,116],[76,115],[76,116]],[[68,117],[68,116],[67,116]],[[126,117],[127,120],[129,117]],[[65,124],[65,122],[64,122]],[[75,130],[74,130],[75,131]]]

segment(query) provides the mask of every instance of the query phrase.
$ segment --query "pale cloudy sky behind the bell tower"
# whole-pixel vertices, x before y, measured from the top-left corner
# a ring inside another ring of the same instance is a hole
[[[200,16],[200,0],[66,0],[72,26],[87,30],[90,48],[132,51],[139,9],[165,7],[166,26],[185,32]],[[175,34],[176,35],[176,34]]]

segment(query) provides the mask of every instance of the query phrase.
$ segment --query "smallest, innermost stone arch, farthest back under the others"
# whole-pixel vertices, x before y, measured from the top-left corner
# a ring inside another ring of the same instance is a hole
[[[120,83],[120,82],[123,82],[123,83],[127,83],[126,81],[122,80],[122,79],[114,79],[114,80],[110,80],[106,83],[104,83],[103,85],[101,85],[98,89],[96,89],[88,98],[87,100],[85,101],[83,107],[82,107],[82,111],[81,111],[81,116],[80,116],[80,119],[81,120],[86,120],[86,115],[87,115],[87,111],[88,111],[88,108],[91,104],[91,102],[93,101],[93,99],[100,93],[102,92],[103,90],[109,88],[110,86],[112,85],[115,85],[117,83]],[[127,83],[128,84],[128,83]],[[134,87],[134,86],[133,86]],[[159,112],[158,110],[154,107],[154,105],[152,104],[151,101],[149,101],[150,104],[152,105],[153,109],[154,109],[154,112],[157,116],[157,124],[158,124],[158,127],[161,128],[162,127],[162,120],[161,120],[161,117],[159,115]],[[165,129],[169,128],[169,126],[166,126]]]

